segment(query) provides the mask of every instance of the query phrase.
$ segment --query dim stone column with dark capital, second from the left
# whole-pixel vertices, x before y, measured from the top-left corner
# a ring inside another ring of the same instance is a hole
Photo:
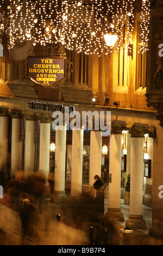
[[[12,109],[12,132],[11,132],[11,176],[22,167],[22,143],[21,127],[22,113],[17,109]]]

